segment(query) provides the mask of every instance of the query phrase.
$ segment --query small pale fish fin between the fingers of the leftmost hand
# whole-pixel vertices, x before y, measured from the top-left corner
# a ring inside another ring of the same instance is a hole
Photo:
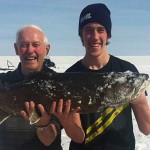
[[[35,123],[37,123],[38,121],[40,120],[40,116],[38,115],[38,113],[36,112],[36,110],[34,109],[30,116],[29,116],[29,121],[30,121],[30,124],[33,125]]]

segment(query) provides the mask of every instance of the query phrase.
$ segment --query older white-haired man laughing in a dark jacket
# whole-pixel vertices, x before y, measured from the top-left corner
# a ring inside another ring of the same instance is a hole
[[[2,83],[22,81],[32,72],[54,72],[43,63],[50,45],[38,26],[22,27],[16,34],[14,47],[21,62],[16,70],[0,74]],[[27,121],[21,116],[12,116],[0,125],[0,150],[62,150],[59,121],[54,116],[49,116],[39,104],[42,116],[36,123],[38,128],[31,126],[28,114],[34,109],[34,103],[26,102],[25,106],[27,112],[22,111],[21,114]]]

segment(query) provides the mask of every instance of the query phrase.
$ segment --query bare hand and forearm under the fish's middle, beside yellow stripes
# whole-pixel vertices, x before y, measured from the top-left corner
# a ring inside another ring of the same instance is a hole
[[[64,101],[60,99],[58,105],[53,102],[50,113],[54,114],[64,127],[66,134],[75,142],[82,143],[85,133],[82,129],[80,115],[78,111],[80,107],[71,110],[71,100],[67,100],[64,108]]]

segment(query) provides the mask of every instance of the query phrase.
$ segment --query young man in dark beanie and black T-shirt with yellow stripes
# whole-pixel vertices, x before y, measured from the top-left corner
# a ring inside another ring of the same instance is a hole
[[[85,47],[85,56],[66,72],[138,72],[137,68],[106,50],[111,38],[110,11],[104,4],[91,4],[85,7],[79,18],[79,36]],[[134,150],[135,137],[132,125],[132,110],[140,131],[150,134],[150,108],[145,94],[117,110],[107,108],[103,114],[81,114],[85,132],[82,144],[73,140],[70,150]],[[79,116],[78,116],[79,117]]]

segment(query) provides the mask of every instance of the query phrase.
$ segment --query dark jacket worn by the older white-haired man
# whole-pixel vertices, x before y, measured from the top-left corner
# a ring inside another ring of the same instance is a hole
[[[42,71],[54,72],[44,66]],[[22,81],[24,76],[21,72],[21,64],[14,71],[0,74],[0,83],[16,83]],[[60,125],[56,119],[57,126]],[[37,137],[36,129],[21,116],[12,116],[0,125],[0,150],[62,150],[61,133],[55,141],[44,146]]]

